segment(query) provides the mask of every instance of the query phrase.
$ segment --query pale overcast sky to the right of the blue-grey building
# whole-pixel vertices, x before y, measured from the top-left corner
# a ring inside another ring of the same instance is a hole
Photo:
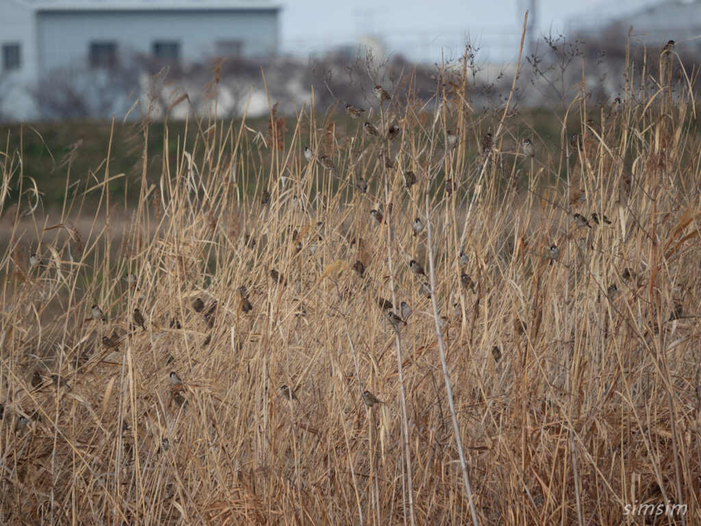
[[[518,51],[523,17],[539,34],[552,27],[624,16],[661,0],[283,0],[285,53],[318,53],[340,45],[357,46],[363,34],[378,34],[388,51],[410,60],[435,62],[440,50],[461,55],[465,35],[482,43],[483,54],[503,60]],[[514,49],[515,48],[515,49]]]

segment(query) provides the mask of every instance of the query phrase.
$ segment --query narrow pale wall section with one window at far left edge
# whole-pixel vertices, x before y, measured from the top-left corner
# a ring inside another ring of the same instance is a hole
[[[20,44],[19,69],[4,71],[0,55],[0,119],[33,119],[30,92],[39,79],[34,13],[15,0],[0,0],[0,4],[0,53],[5,44]]]

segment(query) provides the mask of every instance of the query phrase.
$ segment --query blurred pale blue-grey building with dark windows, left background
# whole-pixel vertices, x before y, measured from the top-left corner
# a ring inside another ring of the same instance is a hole
[[[135,56],[274,54],[279,11],[275,0],[0,0],[0,120],[41,118],[34,94],[62,69],[90,78]]]

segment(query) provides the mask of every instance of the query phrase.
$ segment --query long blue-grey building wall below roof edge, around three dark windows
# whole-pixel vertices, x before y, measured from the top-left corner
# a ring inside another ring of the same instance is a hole
[[[151,54],[155,41],[178,41],[180,59],[215,56],[215,41],[242,41],[245,57],[275,53],[277,12],[53,11],[38,14],[39,70],[88,65],[90,42],[114,41],[118,53]]]

